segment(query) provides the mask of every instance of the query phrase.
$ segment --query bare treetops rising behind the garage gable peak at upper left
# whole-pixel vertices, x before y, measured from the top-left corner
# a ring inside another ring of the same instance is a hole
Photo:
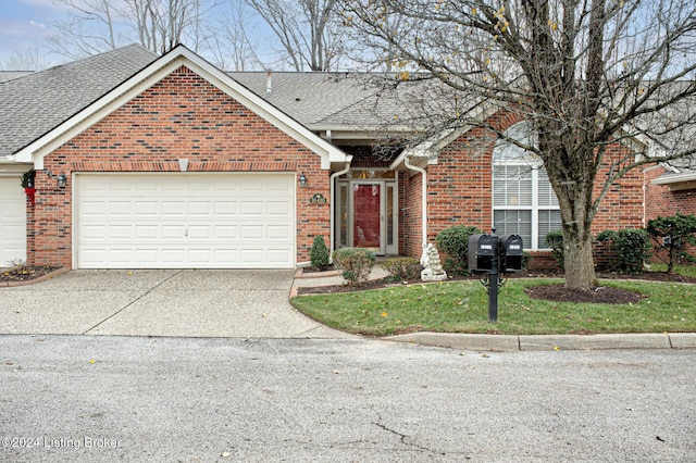
[[[53,51],[67,58],[112,50],[137,41],[163,53],[186,42],[194,51],[206,43],[208,12],[203,0],[57,0],[71,13],[52,24]]]

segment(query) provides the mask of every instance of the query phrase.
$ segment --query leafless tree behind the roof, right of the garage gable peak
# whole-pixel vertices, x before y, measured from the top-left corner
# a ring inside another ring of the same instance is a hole
[[[295,71],[331,71],[341,51],[337,0],[245,0],[281,41]]]

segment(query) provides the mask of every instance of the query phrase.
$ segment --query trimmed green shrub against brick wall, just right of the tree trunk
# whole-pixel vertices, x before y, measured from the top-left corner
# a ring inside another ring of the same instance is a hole
[[[639,273],[651,254],[650,236],[643,228],[605,230],[597,235],[597,241],[609,249],[611,268],[620,273]]]

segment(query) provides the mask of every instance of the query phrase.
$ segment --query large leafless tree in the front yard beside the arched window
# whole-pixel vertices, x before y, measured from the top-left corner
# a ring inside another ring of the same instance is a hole
[[[340,3],[352,30],[393,57],[402,80],[419,71],[447,89],[450,103],[439,114],[427,107],[427,117],[414,120],[419,129],[484,126],[505,138],[499,127],[470,116],[474,107],[529,121],[535,135],[529,142],[506,141],[534,153],[548,173],[570,288],[596,284],[591,226],[611,185],[642,165],[696,152],[691,0]],[[647,148],[616,160],[608,147],[618,142]]]

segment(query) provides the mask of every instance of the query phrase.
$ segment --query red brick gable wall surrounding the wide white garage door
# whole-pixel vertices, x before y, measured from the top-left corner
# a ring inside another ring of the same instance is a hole
[[[309,261],[315,235],[328,242],[328,204],[309,203],[318,192],[330,198],[320,157],[182,66],[45,158],[45,168],[65,173],[69,184],[58,190],[38,173],[29,262],[72,266],[73,172],[178,172],[179,158],[190,172],[303,172],[297,261]]]

